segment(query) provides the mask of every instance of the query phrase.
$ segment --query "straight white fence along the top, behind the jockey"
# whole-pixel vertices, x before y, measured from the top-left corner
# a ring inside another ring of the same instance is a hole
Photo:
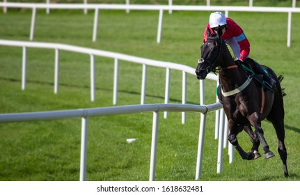
[[[295,2],[295,1],[294,1]],[[293,3],[293,6],[296,3]],[[235,12],[262,12],[262,13],[287,13],[287,47],[291,44],[292,32],[292,13],[300,13],[300,8],[272,8],[272,7],[253,7],[253,6],[152,6],[152,5],[119,5],[119,4],[49,4],[49,3],[0,3],[3,8],[31,8],[31,31],[29,39],[33,40],[35,28],[36,9],[83,9],[95,10],[93,38],[97,38],[97,24],[99,10],[159,10],[159,21],[157,27],[157,42],[161,41],[161,26],[164,10],[171,12],[172,10],[180,11],[224,11],[228,16],[229,11]]]

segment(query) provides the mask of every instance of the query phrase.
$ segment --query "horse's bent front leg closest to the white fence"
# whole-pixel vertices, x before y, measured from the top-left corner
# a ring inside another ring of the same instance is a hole
[[[229,135],[228,141],[235,147],[237,153],[242,157],[242,159],[251,160],[254,158],[253,152],[246,153],[241,146],[239,146],[239,142],[237,141],[237,134],[242,131],[243,126],[237,125],[233,120],[228,120],[229,127]],[[251,130],[252,131],[252,130]]]

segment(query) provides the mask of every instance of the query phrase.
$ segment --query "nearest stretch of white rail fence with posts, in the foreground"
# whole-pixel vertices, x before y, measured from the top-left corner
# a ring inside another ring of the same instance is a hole
[[[86,157],[87,157],[87,141],[88,141],[88,117],[90,116],[108,116],[114,114],[132,114],[141,112],[153,112],[152,122],[152,141],[151,141],[151,155],[150,155],[150,176],[149,180],[155,180],[156,156],[157,156],[157,137],[158,137],[158,123],[159,111],[191,111],[200,112],[200,130],[198,140],[198,155],[196,162],[196,180],[200,178],[202,171],[203,160],[203,141],[205,134],[206,114],[210,111],[221,109],[220,103],[210,105],[191,105],[191,104],[143,104],[123,107],[102,107],[94,109],[77,109],[64,111],[43,111],[20,114],[0,114],[0,123],[19,122],[29,120],[56,120],[63,118],[81,118],[81,157],[80,157],[80,178],[79,180],[86,180]],[[219,137],[219,151],[217,171],[221,172],[223,164],[223,130],[220,130]],[[231,146],[231,145],[230,145]],[[233,148],[228,147],[232,151]]]

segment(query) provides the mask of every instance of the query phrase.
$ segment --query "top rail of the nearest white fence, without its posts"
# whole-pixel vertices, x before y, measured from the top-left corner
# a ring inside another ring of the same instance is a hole
[[[63,111],[37,111],[15,114],[0,114],[0,123],[22,122],[30,120],[57,120],[63,118],[78,118],[88,116],[108,116],[116,114],[132,114],[140,112],[159,111],[189,111],[207,114],[210,111],[221,109],[221,103],[209,105],[195,104],[143,104],[117,107],[99,107],[93,109],[72,109]]]

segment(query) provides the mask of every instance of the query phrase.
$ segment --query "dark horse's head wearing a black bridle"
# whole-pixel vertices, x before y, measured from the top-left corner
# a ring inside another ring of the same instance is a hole
[[[201,46],[201,58],[198,60],[195,71],[198,79],[205,79],[208,73],[215,72],[216,61],[218,61],[222,49],[221,34],[222,32],[219,30],[218,33],[211,33],[207,28],[207,40]]]

